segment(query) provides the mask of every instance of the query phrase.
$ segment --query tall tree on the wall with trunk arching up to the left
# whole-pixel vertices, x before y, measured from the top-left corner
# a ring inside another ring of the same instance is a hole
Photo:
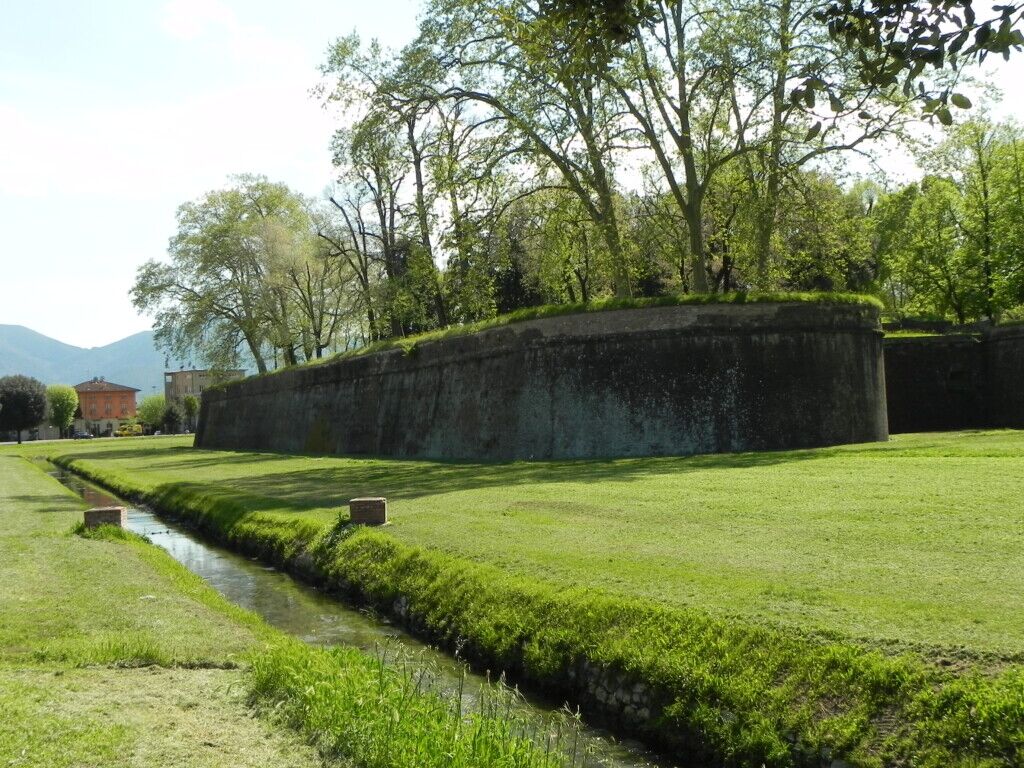
[[[614,178],[622,109],[586,51],[527,0],[436,0],[421,42],[445,67],[437,97],[489,109],[557,172],[603,241],[615,294],[630,295]]]

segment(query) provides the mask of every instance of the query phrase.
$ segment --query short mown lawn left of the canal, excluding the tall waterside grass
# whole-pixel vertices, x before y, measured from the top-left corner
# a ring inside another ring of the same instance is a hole
[[[0,456],[0,765],[317,765],[233,669],[266,628],[150,545],[71,535],[81,514]]]

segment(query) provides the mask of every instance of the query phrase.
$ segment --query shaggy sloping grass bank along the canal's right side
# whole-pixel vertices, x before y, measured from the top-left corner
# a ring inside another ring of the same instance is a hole
[[[1024,763],[1021,659],[883,652],[841,636],[568,589],[283,515],[266,499],[146,487],[101,462],[69,468],[229,546],[371,603],[492,670],[578,701],[699,765]]]

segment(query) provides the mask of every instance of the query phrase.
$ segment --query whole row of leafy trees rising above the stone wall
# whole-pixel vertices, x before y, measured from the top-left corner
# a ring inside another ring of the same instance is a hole
[[[608,295],[871,291],[962,322],[1024,302],[1019,130],[964,124],[892,194],[851,179],[920,111],[822,8],[653,2],[601,45],[543,2],[432,0],[396,55],[342,38],[330,193],[242,176],[182,206],[135,304],[168,351],[262,372]]]

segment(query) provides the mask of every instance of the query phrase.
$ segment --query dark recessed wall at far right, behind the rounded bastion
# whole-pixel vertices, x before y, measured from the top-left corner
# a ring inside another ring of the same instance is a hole
[[[1024,325],[885,340],[890,432],[1024,427]]]

